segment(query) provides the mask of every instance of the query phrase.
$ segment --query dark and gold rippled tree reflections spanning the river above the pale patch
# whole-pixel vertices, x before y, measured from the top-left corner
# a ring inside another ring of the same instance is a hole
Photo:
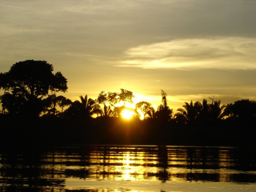
[[[253,149],[81,146],[0,154],[2,191],[64,191],[65,178],[256,182]]]

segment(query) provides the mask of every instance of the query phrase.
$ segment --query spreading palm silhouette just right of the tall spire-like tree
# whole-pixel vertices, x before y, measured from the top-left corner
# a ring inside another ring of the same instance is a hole
[[[193,104],[193,101],[190,101],[190,104],[188,102],[185,102],[185,105],[182,106],[183,108],[178,108],[177,112],[174,117],[178,121],[183,120],[185,123],[188,124],[194,124],[199,116],[200,111],[200,102],[196,101]]]

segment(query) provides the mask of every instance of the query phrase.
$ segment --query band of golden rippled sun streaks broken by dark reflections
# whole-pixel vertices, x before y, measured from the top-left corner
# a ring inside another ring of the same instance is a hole
[[[50,178],[62,177],[96,180],[140,181],[233,181],[236,159],[230,150],[100,148],[86,156],[77,153],[44,154],[42,165]],[[81,163],[82,162],[82,163]],[[60,175],[55,175],[60,172]],[[209,175],[205,178],[205,173]]]

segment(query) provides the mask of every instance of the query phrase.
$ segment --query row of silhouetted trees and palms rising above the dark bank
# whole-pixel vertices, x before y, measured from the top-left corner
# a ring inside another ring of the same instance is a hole
[[[195,126],[198,124],[217,124],[223,119],[251,122],[256,117],[256,102],[248,99],[221,105],[220,100],[210,98],[202,102],[191,100],[183,108],[173,113],[167,105],[167,93],[161,90],[162,101],[155,110],[147,101],[135,104],[135,109],[125,104],[133,103],[133,92],[120,89],[120,92],[99,93],[93,100],[81,95],[80,100],[71,101],[58,92],[67,92],[67,79],[56,72],[47,61],[25,60],[12,65],[10,70],[0,73],[0,96],[2,115],[12,117],[56,117],[70,119],[118,118],[124,110],[133,112],[133,118],[143,120],[157,119],[160,122],[173,122]]]

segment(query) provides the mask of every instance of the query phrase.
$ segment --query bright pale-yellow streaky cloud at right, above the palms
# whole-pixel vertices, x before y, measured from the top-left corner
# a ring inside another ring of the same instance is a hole
[[[256,38],[176,39],[126,50],[119,67],[256,69]]]

